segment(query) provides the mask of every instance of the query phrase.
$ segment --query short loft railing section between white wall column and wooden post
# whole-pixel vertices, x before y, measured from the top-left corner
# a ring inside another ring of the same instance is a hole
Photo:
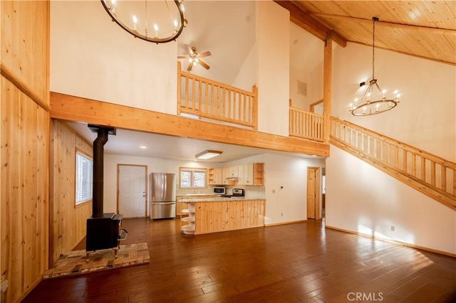
[[[323,142],[323,116],[289,107],[289,135]]]

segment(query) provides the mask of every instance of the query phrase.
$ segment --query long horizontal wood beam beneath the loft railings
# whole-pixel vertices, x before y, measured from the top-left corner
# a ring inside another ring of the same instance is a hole
[[[329,156],[329,145],[51,92],[51,118],[175,137]]]

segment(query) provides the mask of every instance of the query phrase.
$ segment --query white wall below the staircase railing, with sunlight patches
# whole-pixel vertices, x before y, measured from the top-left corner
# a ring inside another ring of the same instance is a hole
[[[326,225],[456,253],[455,211],[333,146]]]

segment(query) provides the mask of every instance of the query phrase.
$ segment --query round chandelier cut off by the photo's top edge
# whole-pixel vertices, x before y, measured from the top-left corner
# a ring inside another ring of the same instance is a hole
[[[187,25],[182,0],[101,0],[101,4],[121,28],[149,42],[175,41]]]

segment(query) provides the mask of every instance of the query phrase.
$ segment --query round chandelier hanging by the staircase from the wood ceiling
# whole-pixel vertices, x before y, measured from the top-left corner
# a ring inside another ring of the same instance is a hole
[[[395,90],[393,99],[386,99],[386,91],[381,90],[377,83],[374,75],[374,58],[375,58],[375,21],[378,21],[377,17],[373,17],[373,30],[372,30],[372,80],[369,82],[368,89],[364,92],[363,97],[358,102],[350,104],[350,112],[354,116],[368,116],[380,114],[380,112],[386,112],[391,110],[399,103],[399,94]],[[360,83],[360,86],[366,83]]]

